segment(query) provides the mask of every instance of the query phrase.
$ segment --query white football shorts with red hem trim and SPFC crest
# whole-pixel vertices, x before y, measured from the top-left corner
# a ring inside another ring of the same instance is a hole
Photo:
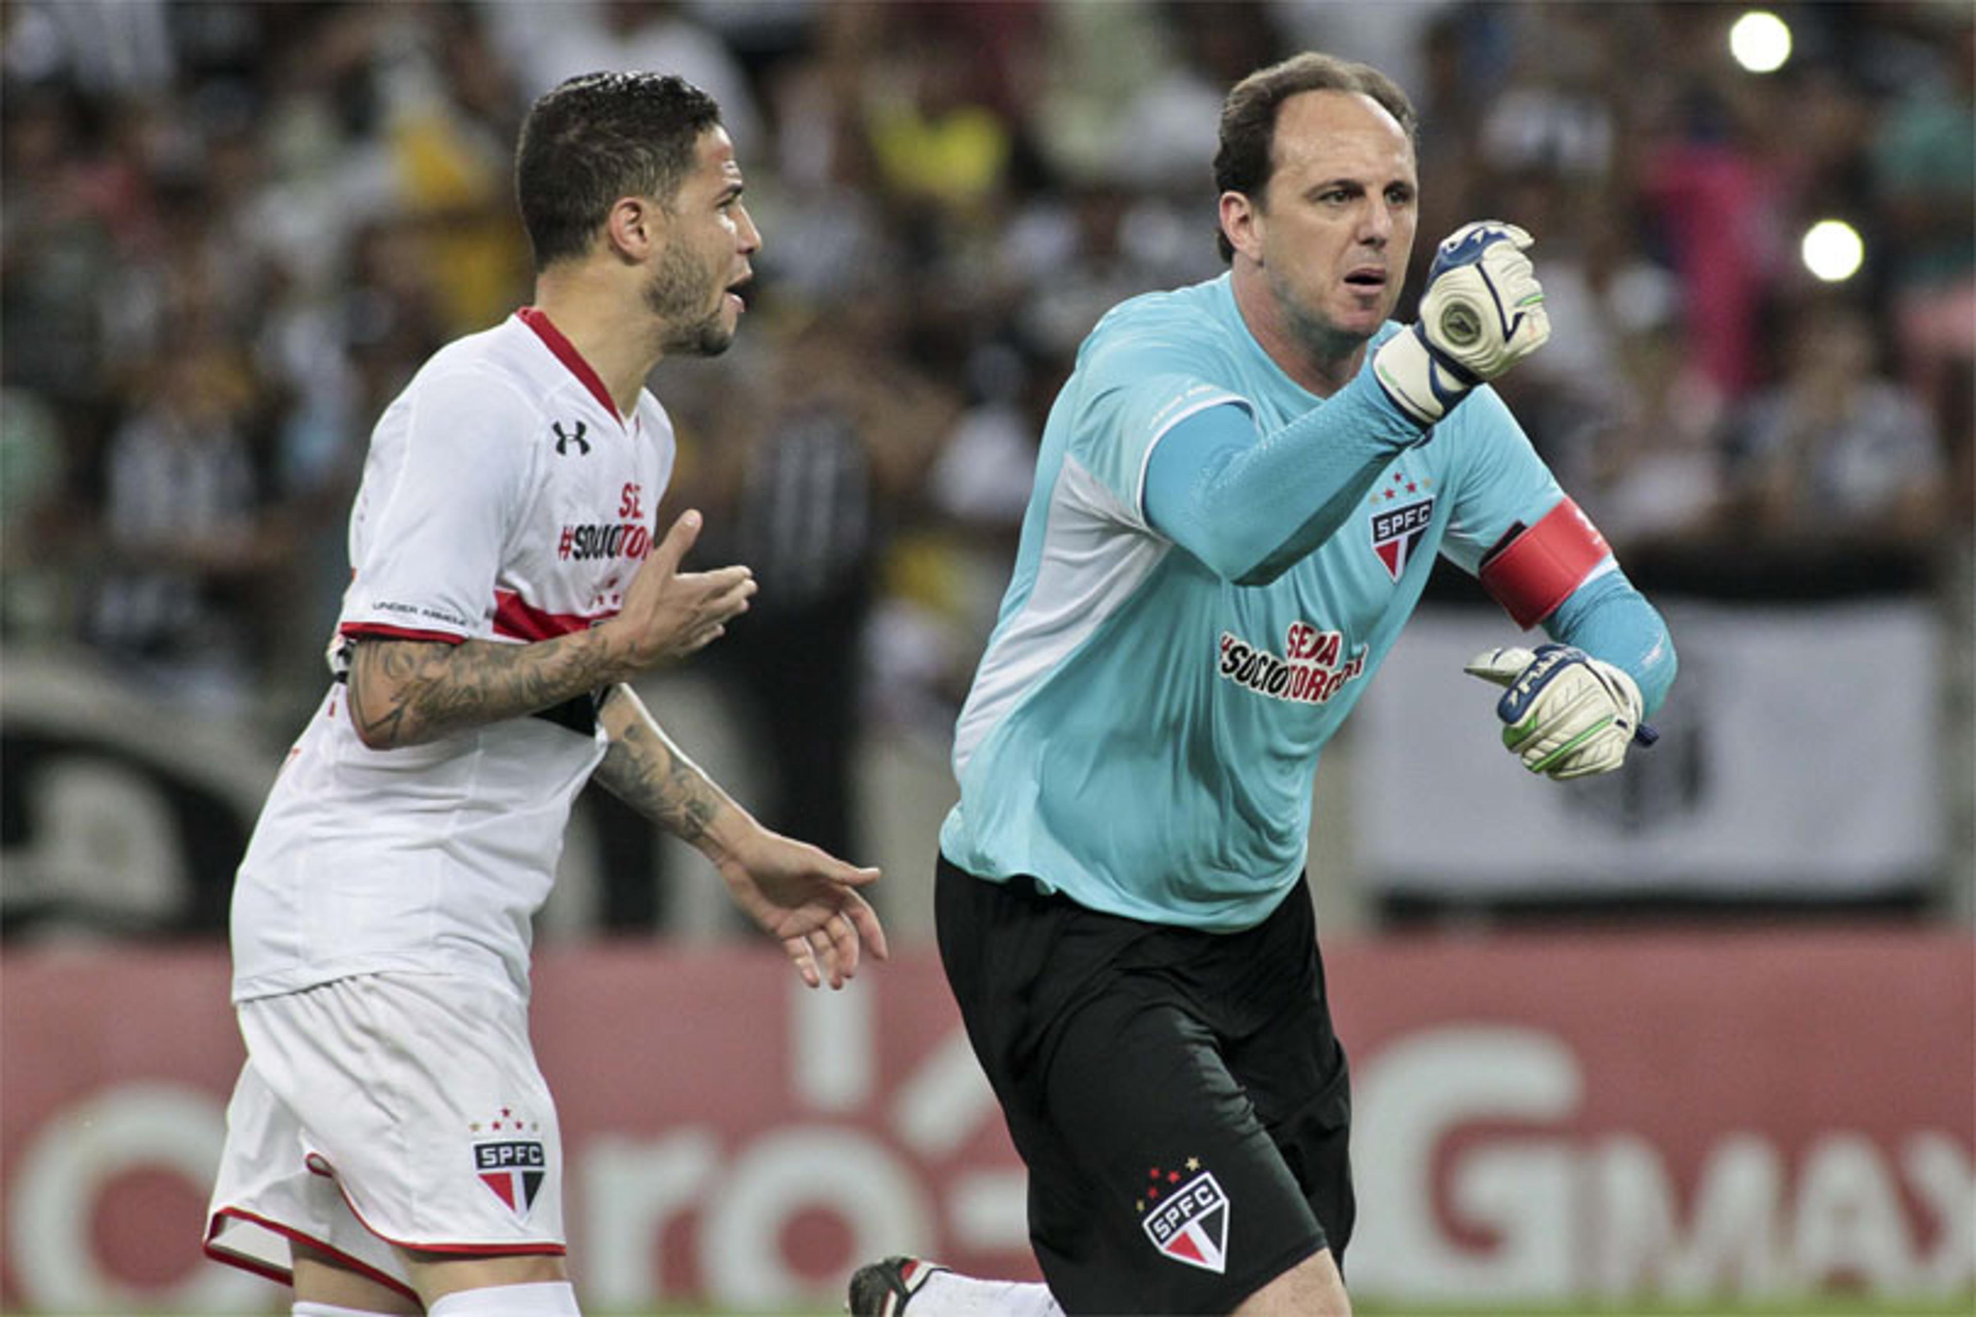
[[[290,1281],[288,1240],[411,1293],[393,1246],[561,1254],[563,1145],[512,991],[368,973],[239,1003],[206,1252]]]

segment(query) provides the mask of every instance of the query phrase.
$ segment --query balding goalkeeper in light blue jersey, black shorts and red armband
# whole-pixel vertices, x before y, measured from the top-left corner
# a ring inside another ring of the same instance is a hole
[[[1470,663],[1527,768],[1616,768],[1666,695],[1660,614],[1486,385],[1549,334],[1529,235],[1466,225],[1389,320],[1413,132],[1365,65],[1243,79],[1229,272],[1112,308],[1057,395],[935,898],[1047,1283],[887,1258],[858,1317],[1348,1313],[1350,1084],[1302,873],[1324,742],[1437,555],[1555,642]]]

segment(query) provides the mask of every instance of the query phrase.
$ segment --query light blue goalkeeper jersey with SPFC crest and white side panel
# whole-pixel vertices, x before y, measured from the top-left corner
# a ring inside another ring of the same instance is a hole
[[[1263,434],[1324,407],[1249,336],[1225,274],[1118,304],[1079,349],[954,733],[960,804],[941,827],[954,865],[1158,924],[1259,924],[1302,875],[1324,742],[1435,555],[1474,573],[1512,523],[1563,498],[1482,387],[1336,535],[1241,586],[1144,513],[1160,436],[1231,401]]]

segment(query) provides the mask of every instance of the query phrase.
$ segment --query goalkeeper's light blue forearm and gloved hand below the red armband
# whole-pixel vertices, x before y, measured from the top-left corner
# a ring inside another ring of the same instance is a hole
[[[1553,644],[1478,654],[1468,671],[1508,687],[1496,703],[1504,746],[1549,778],[1610,772],[1674,685],[1674,638],[1616,565],[1583,581],[1545,618]]]

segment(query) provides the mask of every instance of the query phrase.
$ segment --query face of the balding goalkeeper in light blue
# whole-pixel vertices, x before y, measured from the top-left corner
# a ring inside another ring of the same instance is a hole
[[[1405,128],[1369,97],[1306,91],[1276,115],[1275,170],[1243,255],[1263,267],[1284,328],[1348,355],[1393,314],[1419,223]]]

